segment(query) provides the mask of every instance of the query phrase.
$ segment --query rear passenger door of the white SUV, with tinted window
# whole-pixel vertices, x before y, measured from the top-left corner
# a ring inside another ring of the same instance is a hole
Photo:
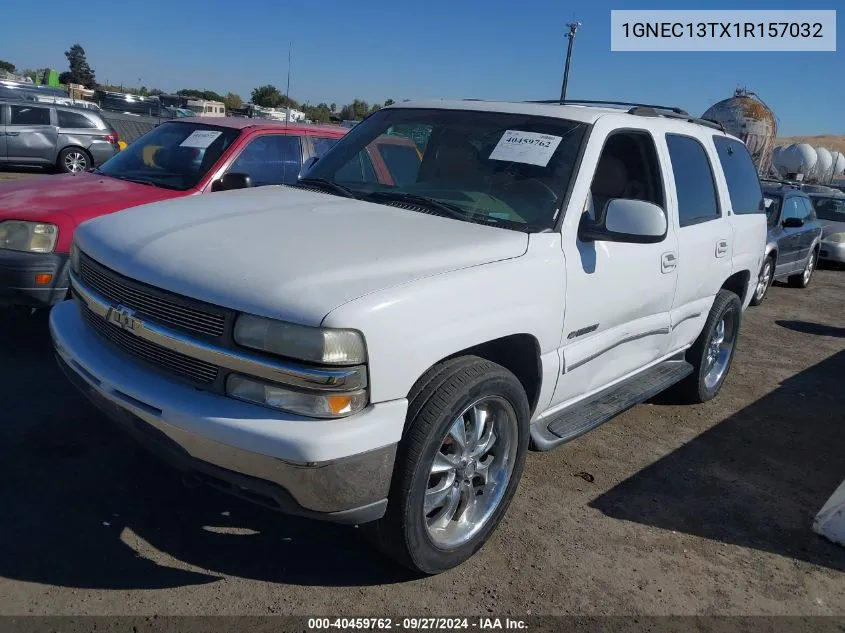
[[[727,201],[719,195],[715,147],[707,136],[667,133],[663,141],[671,169],[670,207],[676,211],[678,285],[672,303],[670,347],[690,345],[722,283],[731,276],[733,228]]]

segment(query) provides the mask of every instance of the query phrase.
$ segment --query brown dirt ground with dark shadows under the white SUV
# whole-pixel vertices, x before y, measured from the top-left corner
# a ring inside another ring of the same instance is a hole
[[[845,271],[776,285],[727,385],[529,455],[504,524],[412,578],[354,528],[180,477],[78,396],[46,322],[0,321],[0,614],[845,614],[811,531],[845,478]]]

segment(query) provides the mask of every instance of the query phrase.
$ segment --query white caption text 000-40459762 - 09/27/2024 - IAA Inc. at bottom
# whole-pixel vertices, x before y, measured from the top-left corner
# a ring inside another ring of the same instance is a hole
[[[525,631],[528,625],[518,618],[309,618],[309,631]]]

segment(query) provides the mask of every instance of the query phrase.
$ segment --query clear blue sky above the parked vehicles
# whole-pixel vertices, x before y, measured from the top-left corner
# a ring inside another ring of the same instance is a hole
[[[842,32],[840,3],[818,0],[806,8],[839,8]],[[86,0],[81,11],[66,0],[7,4],[0,59],[21,68],[66,70],[63,53],[79,42],[100,81],[231,90],[248,99],[261,84],[284,91],[290,41],[291,96],[338,105],[356,97],[554,99],[565,24],[575,18],[583,26],[570,97],[678,105],[700,115],[747,86],[775,110],[781,135],[845,134],[842,38],[839,50],[828,53],[610,51],[612,8],[799,8],[795,2]]]

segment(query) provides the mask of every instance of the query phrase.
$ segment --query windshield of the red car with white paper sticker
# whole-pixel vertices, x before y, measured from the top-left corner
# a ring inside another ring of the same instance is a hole
[[[162,123],[103,163],[99,172],[185,191],[196,184],[240,134],[199,123]]]

